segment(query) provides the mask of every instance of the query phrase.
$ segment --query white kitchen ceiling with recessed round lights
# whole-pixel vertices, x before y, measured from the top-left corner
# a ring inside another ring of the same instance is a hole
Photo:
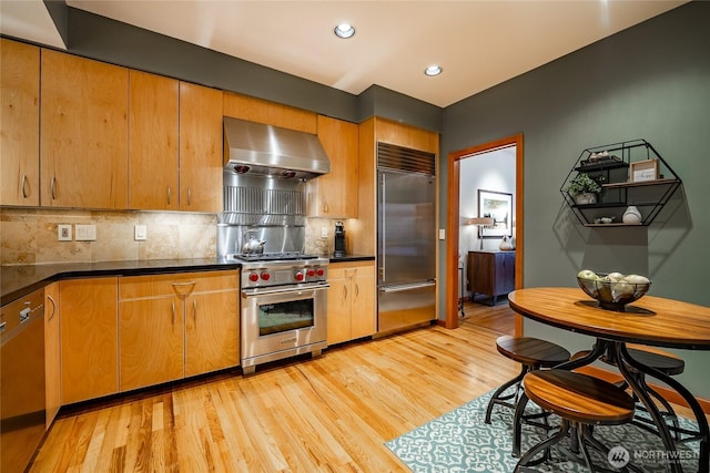
[[[686,2],[67,1],[353,94],[377,84],[442,107]],[[2,0],[2,33],[55,40],[38,4]],[[341,21],[356,28],[351,40],[333,34]],[[433,63],[444,73],[425,76]]]

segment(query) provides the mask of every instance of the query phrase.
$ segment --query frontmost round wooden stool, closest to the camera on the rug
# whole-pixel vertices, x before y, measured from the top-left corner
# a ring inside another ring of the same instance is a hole
[[[525,376],[523,387],[525,393],[517,409],[525,409],[529,399],[546,411],[559,415],[561,423],[554,435],[534,445],[523,455],[515,472],[548,459],[550,446],[565,439],[570,430],[576,432],[577,446],[587,467],[595,472],[587,445],[596,448],[605,456],[608,455],[609,449],[594,438],[591,428],[618,425],[633,419],[635,402],[623,389],[587,374],[566,370],[534,371]],[[516,429],[519,426],[516,425]],[[514,436],[516,434],[519,434],[519,431],[514,433]],[[516,441],[519,451],[519,436]],[[541,451],[545,451],[542,457],[534,460]],[[628,471],[627,467],[638,471],[632,465],[627,465],[621,471]]]

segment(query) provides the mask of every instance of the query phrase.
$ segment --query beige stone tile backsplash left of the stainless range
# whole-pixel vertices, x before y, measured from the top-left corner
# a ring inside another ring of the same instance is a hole
[[[72,226],[72,240],[58,240],[58,225]],[[97,239],[77,241],[75,225],[97,227]],[[134,240],[145,225],[146,239]],[[182,212],[0,209],[0,264],[95,263],[213,258],[216,215]]]

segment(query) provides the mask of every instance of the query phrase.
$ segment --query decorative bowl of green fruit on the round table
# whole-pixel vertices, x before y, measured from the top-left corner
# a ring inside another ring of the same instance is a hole
[[[599,301],[599,307],[617,312],[623,312],[627,304],[643,297],[651,286],[646,276],[595,273],[589,269],[577,274],[577,284],[589,297]]]

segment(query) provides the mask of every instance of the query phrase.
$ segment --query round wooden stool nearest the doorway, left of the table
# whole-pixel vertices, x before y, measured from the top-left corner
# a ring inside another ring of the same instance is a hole
[[[510,336],[498,337],[496,340],[496,347],[500,354],[519,362],[523,368],[517,377],[507,381],[490,397],[488,409],[486,409],[487,424],[490,423],[493,408],[496,404],[515,409],[520,393],[520,381],[523,381],[523,378],[527,373],[534,370],[539,370],[540,368],[552,368],[556,364],[564,363],[569,360],[569,351],[559,345],[537,338]],[[515,392],[503,395],[503,393],[514,384],[516,385]]]

